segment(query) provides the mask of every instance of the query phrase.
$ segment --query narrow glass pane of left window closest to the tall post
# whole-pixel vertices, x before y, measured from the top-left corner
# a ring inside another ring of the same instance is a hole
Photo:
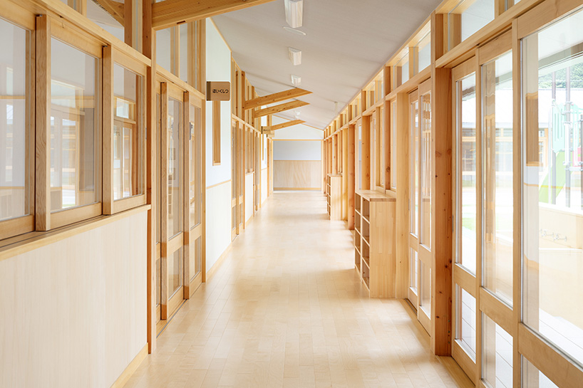
[[[138,92],[142,77],[113,65],[113,199],[140,193],[138,171]]]

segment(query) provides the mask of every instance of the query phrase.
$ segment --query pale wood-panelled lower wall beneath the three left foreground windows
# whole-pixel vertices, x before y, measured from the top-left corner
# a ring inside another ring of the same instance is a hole
[[[0,257],[0,387],[110,387],[146,345],[147,212]]]

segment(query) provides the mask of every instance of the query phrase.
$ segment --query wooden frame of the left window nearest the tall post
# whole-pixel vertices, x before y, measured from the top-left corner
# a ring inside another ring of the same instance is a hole
[[[120,65],[141,77],[141,85],[136,85],[138,101],[136,102],[136,129],[133,150],[137,151],[138,194],[114,200],[113,196],[113,130],[115,122],[115,96],[113,95],[113,68]],[[146,160],[145,160],[145,80],[147,67],[140,61],[126,56],[112,46],[103,47],[103,214],[115,214],[120,211],[142,206],[146,203]]]

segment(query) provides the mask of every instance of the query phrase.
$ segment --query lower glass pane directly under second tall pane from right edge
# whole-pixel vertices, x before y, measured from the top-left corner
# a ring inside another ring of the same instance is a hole
[[[482,313],[482,378],[492,388],[512,388],[512,335]]]

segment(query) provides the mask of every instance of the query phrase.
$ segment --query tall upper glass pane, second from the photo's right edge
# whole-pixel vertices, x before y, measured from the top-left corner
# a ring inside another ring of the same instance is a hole
[[[482,65],[483,279],[512,304],[512,52]]]

